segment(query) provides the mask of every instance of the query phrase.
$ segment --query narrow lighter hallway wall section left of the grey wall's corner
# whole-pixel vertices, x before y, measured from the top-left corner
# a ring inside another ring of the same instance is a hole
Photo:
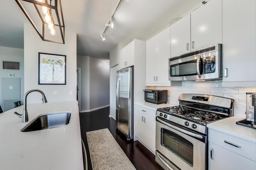
[[[81,68],[81,112],[90,111],[90,57],[77,56],[77,67]]]

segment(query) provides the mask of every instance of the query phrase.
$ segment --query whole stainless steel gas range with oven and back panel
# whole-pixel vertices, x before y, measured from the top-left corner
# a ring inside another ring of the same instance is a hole
[[[207,124],[232,116],[233,100],[180,94],[179,102],[156,111],[156,162],[166,170],[205,170]]]

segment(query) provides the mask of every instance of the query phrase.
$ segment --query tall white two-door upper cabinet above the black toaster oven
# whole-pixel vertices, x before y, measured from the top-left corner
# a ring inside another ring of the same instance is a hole
[[[171,86],[169,58],[170,27],[146,41],[146,86]],[[180,82],[174,84],[181,85]]]

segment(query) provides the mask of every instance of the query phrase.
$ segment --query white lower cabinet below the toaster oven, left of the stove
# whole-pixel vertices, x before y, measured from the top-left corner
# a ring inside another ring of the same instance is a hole
[[[134,105],[135,136],[153,154],[156,150],[156,110]]]

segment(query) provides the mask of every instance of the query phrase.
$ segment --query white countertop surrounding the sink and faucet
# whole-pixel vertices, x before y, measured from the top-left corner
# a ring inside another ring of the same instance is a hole
[[[14,111],[0,113],[1,170],[82,170],[83,157],[77,101],[28,104],[28,122]],[[21,132],[20,129],[42,113],[69,111],[68,125],[53,129]]]

